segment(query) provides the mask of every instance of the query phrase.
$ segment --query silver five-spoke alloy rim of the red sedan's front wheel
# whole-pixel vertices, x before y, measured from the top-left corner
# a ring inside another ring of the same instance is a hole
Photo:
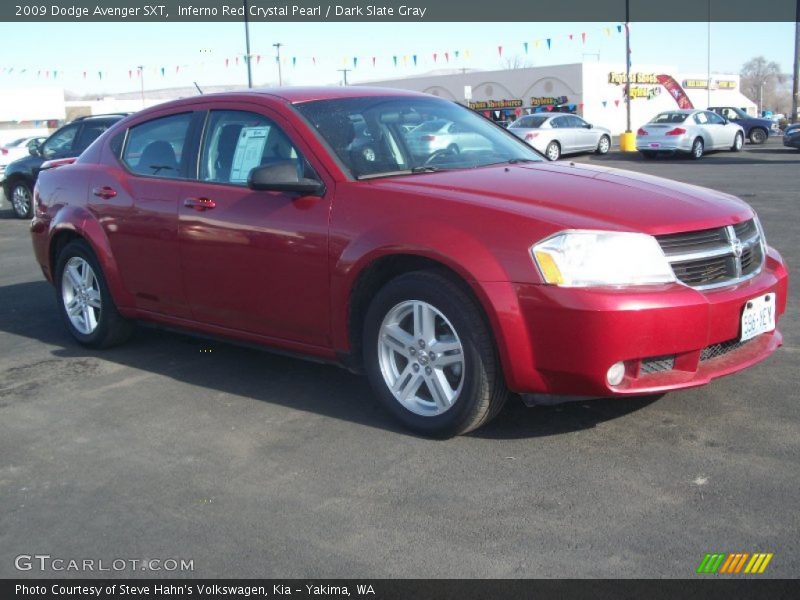
[[[392,308],[378,334],[378,361],[386,386],[411,412],[433,417],[456,403],[464,386],[464,347],[435,306],[407,300]]]

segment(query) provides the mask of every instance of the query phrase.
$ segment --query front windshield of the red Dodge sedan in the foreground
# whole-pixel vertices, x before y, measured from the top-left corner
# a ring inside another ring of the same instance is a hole
[[[341,98],[295,108],[356,178],[542,160],[516,136],[446,100]]]

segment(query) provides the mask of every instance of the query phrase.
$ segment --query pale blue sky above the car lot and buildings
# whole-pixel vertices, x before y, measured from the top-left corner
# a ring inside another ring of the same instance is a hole
[[[255,85],[278,81],[276,42],[285,44],[284,85],[336,84],[343,68],[351,69],[350,83],[443,68],[500,69],[515,56],[530,66],[581,61],[623,65],[625,36],[618,25],[251,23],[250,52],[261,56],[252,63]],[[712,23],[711,71],[738,73],[745,61],[763,55],[789,73],[794,30],[794,23]],[[0,89],[58,86],[98,96],[138,91],[139,65],[144,67],[145,89],[194,81],[201,87],[247,83],[240,23],[0,23],[0,39]],[[632,68],[655,64],[705,73],[708,39],[707,23],[632,23]]]

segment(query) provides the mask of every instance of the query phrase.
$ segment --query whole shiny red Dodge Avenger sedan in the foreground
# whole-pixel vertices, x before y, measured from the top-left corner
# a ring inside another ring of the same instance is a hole
[[[409,143],[431,121],[453,123],[447,145]],[[335,361],[432,435],[483,425],[509,390],[708,383],[780,346],[786,307],[786,267],[743,201],[545,162],[396,90],[144,110],[42,172],[31,231],[80,343],[143,320]]]

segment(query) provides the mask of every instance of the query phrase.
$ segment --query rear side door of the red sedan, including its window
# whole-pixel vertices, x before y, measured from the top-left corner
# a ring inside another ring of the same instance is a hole
[[[122,284],[136,308],[189,318],[180,274],[178,198],[194,163],[188,142],[198,115],[160,113],[117,134],[117,156],[89,185],[89,208],[104,228]]]

